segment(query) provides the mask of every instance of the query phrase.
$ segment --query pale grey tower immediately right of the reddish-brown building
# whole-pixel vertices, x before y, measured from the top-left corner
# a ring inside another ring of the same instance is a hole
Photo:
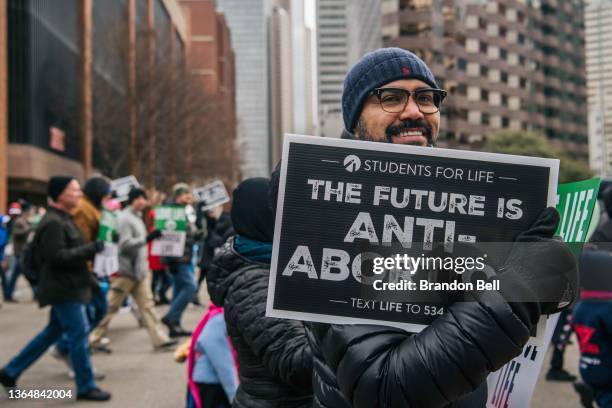
[[[236,54],[236,112],[242,176],[270,174],[269,0],[217,0]]]

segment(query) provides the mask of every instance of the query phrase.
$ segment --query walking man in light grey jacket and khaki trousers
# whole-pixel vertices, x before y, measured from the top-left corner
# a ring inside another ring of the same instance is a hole
[[[159,238],[161,232],[154,230],[147,234],[147,229],[142,221],[142,211],[147,205],[145,191],[133,188],[128,194],[127,207],[117,219],[119,271],[116,275],[111,276],[108,313],[89,336],[89,342],[92,345],[97,344],[104,337],[108,325],[119,312],[128,295],[132,295],[138,305],[153,348],[168,350],[176,344],[176,340],[170,340],[164,331],[153,308],[153,294],[148,283],[147,243]]]

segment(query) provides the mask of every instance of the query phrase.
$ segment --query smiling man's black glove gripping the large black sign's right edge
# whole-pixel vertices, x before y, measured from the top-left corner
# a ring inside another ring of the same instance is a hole
[[[576,259],[569,248],[553,239],[559,213],[546,208],[527,231],[514,241],[499,270],[500,291],[524,322],[536,324],[540,314],[569,305],[576,296]]]

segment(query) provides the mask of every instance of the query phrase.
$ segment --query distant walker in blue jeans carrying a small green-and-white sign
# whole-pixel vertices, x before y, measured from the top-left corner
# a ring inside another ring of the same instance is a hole
[[[193,195],[186,183],[177,183],[172,187],[172,204],[185,207],[191,206]],[[197,231],[195,220],[187,217],[187,234],[185,249],[180,257],[164,257],[164,263],[172,276],[172,302],[168,312],[161,321],[168,327],[170,337],[190,336],[191,332],[181,326],[183,312],[189,306],[198,288],[195,279],[193,263],[193,246],[200,240],[202,233]]]

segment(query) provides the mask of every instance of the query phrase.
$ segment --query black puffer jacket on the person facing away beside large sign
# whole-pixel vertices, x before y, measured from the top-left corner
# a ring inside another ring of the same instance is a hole
[[[238,354],[240,386],[233,407],[312,407],[312,354],[304,326],[265,317],[270,265],[250,261],[230,239],[207,275],[213,303],[225,308]]]

